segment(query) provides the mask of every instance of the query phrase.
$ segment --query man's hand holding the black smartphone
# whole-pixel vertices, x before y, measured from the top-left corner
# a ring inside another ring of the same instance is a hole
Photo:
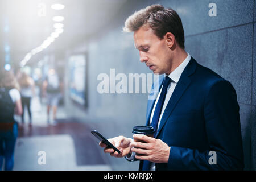
[[[117,158],[122,158],[127,154],[131,153],[130,143],[133,141],[131,138],[126,138],[123,136],[114,137],[108,139],[110,143],[112,143],[121,153],[118,154],[117,151],[114,151],[113,148],[107,148],[105,143],[100,142],[99,145],[104,148],[105,153],[110,153],[111,156],[115,156]]]

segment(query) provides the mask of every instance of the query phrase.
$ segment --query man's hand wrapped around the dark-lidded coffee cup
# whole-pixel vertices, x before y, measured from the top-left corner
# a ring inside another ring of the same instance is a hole
[[[133,135],[134,142],[130,146],[136,152],[136,159],[149,160],[153,163],[168,163],[170,147],[160,139],[148,137],[146,135]],[[146,142],[146,143],[143,143]]]

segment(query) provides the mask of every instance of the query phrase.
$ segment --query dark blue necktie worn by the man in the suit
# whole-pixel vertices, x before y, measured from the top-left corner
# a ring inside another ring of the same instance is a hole
[[[155,112],[154,112],[152,122],[151,122],[151,126],[154,127],[154,129],[155,129],[154,137],[156,137],[156,133],[158,131],[159,117],[160,117],[160,114],[162,112],[163,103],[164,103],[164,100],[166,98],[167,88],[168,88],[168,85],[170,84],[170,82],[171,82],[171,78],[166,76],[164,78],[164,81],[163,81],[163,84],[162,84],[163,85],[162,92],[161,92],[160,97],[158,99],[158,103],[155,106]],[[143,166],[142,166],[142,171],[149,171],[150,170],[150,165],[151,165],[150,161],[144,160],[143,161]]]

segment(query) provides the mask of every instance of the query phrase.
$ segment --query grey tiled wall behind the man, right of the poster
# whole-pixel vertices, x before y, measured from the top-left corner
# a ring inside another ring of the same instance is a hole
[[[217,5],[216,17],[208,15],[211,2]],[[115,68],[116,73],[151,73],[144,64],[139,63],[133,34],[123,33],[122,26],[125,17],[152,3],[176,10],[183,21],[185,50],[200,64],[232,82],[240,104],[245,169],[256,169],[254,0],[128,1],[116,16],[115,22],[118,23],[110,23],[104,36],[94,36],[86,41],[88,108],[72,110],[72,114],[76,117],[79,115],[83,120],[102,123],[102,130],[109,131],[107,137],[131,137],[132,127],[144,124],[147,94],[98,94],[97,76],[99,73],[109,75],[110,68]],[[138,164],[124,160],[109,158],[109,161],[113,169],[138,168]]]

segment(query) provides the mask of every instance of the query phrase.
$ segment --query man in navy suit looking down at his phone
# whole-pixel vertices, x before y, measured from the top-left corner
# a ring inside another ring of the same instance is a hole
[[[140,60],[161,74],[152,85],[146,125],[155,137],[109,139],[127,160],[141,160],[140,170],[242,170],[239,105],[232,84],[198,64],[184,50],[179,15],[162,5],[135,12],[125,22],[134,32]],[[135,154],[135,155],[133,155]]]

